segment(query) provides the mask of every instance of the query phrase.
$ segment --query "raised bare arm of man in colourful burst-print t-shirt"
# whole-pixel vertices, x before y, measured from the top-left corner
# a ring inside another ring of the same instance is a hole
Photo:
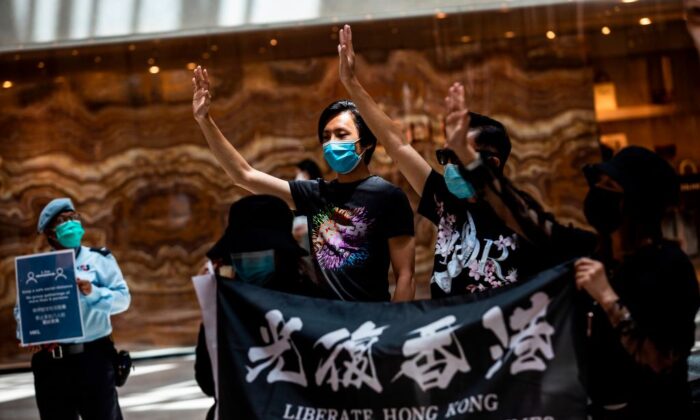
[[[209,75],[205,69],[197,67],[194,70],[192,85],[194,87],[192,98],[194,119],[199,124],[212,153],[233,179],[233,182],[254,194],[277,196],[294,208],[289,183],[250,166],[214,123],[209,115],[211,93],[209,91]]]

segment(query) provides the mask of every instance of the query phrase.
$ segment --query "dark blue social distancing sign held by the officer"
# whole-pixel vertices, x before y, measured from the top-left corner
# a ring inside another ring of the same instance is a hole
[[[83,337],[72,249],[15,258],[23,346]]]

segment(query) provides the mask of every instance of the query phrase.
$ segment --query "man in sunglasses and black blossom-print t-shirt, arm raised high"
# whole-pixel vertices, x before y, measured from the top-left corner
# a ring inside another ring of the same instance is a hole
[[[527,242],[477,195],[460,171],[462,162],[471,162],[470,170],[483,166],[495,172],[503,171],[511,149],[503,124],[464,109],[463,87],[453,85],[446,98],[449,113],[446,147],[436,151],[438,163],[445,167],[444,175],[440,175],[404,141],[401,127],[382,111],[358,81],[350,26],[340,29],[339,40],[341,82],[387,154],[421,197],[418,213],[438,228],[431,296],[483,292],[534,273],[532,259],[526,256]],[[468,138],[475,145],[473,156],[459,156],[461,149],[453,147],[455,138]]]

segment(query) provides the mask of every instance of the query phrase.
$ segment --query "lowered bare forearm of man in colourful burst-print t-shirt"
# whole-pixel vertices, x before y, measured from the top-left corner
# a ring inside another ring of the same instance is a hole
[[[416,283],[413,280],[416,261],[416,240],[413,236],[396,236],[389,238],[389,256],[394,270],[396,289],[392,302],[413,300],[416,295]]]

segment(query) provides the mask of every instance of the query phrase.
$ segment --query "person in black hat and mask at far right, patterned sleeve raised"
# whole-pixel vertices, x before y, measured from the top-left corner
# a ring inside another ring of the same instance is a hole
[[[463,141],[462,149],[470,147]],[[664,212],[679,196],[673,168],[640,147],[587,167],[584,209],[598,236],[560,225],[485,165],[460,174],[492,205],[508,208],[508,223],[531,239],[541,263],[583,256],[575,271],[594,301],[585,314],[593,418],[692,418],[687,357],[700,296],[688,257],[661,236]]]

